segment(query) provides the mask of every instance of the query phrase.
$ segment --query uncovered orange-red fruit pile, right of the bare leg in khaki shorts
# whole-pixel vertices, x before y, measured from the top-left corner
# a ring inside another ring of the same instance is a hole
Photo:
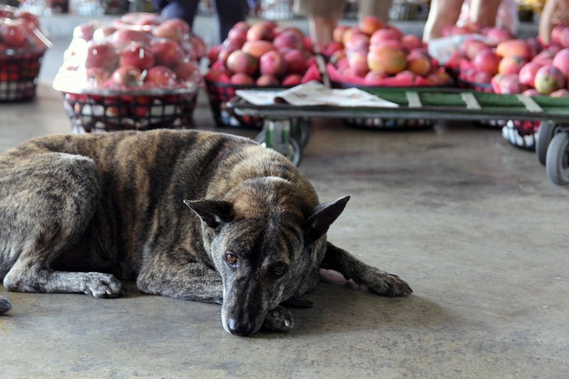
[[[358,26],[337,26],[334,41],[322,48],[328,72],[337,82],[357,85],[446,85],[450,76],[418,36],[404,35],[375,16]]]

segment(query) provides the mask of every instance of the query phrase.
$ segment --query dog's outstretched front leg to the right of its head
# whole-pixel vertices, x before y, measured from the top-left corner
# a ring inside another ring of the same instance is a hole
[[[346,279],[352,279],[356,284],[366,286],[370,292],[381,296],[400,296],[413,292],[409,284],[397,275],[368,266],[330,242],[327,242],[321,268],[333,269]]]

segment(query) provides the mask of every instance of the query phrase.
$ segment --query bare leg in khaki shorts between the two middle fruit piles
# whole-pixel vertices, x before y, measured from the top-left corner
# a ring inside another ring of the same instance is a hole
[[[344,0],[296,0],[294,11],[309,18],[309,30],[312,42],[324,46],[332,41],[332,32],[337,25],[346,2]]]

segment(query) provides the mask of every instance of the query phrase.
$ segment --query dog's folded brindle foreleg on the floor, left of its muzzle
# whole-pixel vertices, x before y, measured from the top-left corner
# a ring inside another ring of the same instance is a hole
[[[173,254],[147,258],[137,277],[137,287],[148,294],[176,299],[216,304],[223,301],[223,284],[215,269]]]

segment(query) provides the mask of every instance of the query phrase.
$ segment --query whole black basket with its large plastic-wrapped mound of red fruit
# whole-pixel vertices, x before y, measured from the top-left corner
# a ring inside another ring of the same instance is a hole
[[[73,132],[191,127],[201,47],[189,32],[185,21],[145,13],[75,28],[53,82]]]

